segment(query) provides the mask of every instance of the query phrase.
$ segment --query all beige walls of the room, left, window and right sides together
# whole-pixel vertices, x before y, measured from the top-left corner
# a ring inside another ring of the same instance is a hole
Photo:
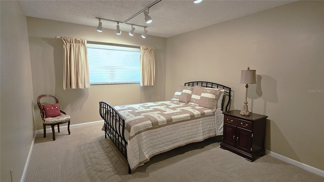
[[[98,33],[95,27],[37,18],[26,21],[18,2],[0,5],[1,181],[10,181],[12,167],[14,181],[20,180],[33,123],[34,129],[42,128],[35,105],[40,94],[57,95],[72,124],[101,120],[99,101],[120,105],[170,99],[177,85],[192,80],[231,86],[230,109],[241,109],[245,89],[239,76],[247,66],[258,74],[258,83],[249,87],[249,109],[269,116],[266,149],[324,170],[324,93],[310,92],[324,89],[323,2],[297,2],[167,39],[130,37],[127,32],[117,36],[114,30]],[[155,45],[156,85],[63,90],[63,46],[56,35]],[[24,109],[17,112],[19,107]]]

